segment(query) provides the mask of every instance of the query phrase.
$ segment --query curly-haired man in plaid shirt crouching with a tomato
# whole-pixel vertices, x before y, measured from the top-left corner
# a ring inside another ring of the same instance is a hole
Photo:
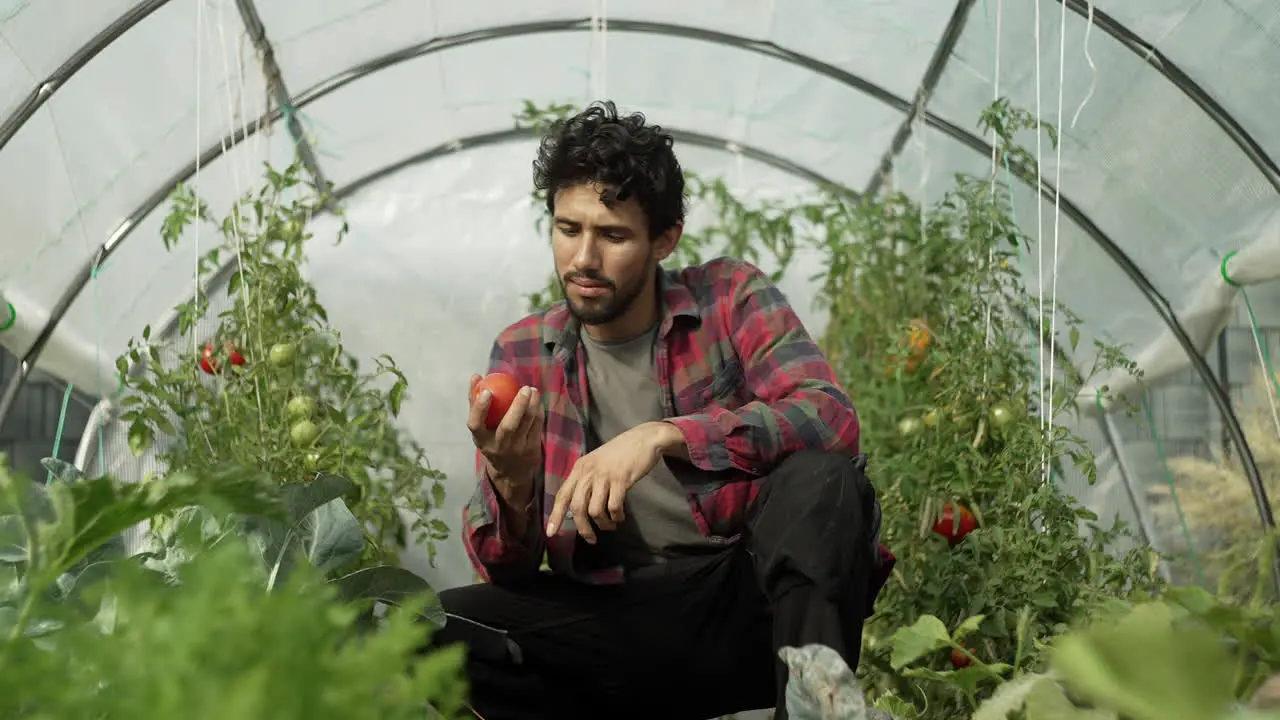
[[[852,404],[760,270],[660,268],[685,218],[662,128],[593,105],[534,176],[566,300],[493,346],[524,387],[495,430],[488,393],[467,420],[488,583],[440,593],[436,642],[467,643],[485,720],[786,717],[777,651],[856,666],[890,562]]]

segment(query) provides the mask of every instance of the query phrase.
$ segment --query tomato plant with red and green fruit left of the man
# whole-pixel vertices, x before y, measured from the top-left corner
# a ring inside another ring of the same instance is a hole
[[[325,206],[305,190],[298,163],[268,167],[262,187],[220,220],[189,188],[175,191],[164,246],[196,223],[211,225],[216,241],[205,236],[197,287],[233,260],[228,302],[215,311],[201,290],[177,307],[178,340],[154,338],[148,327],[129,342],[116,363],[129,446],[142,454],[157,436],[172,439],[161,452],[170,473],[236,464],[280,483],[317,471],[351,478],[349,510],[371,541],[365,560],[425,539],[434,561],[435,541],[448,534],[431,516],[444,500],[443,475],[396,427],[404,374],[387,355],[362,372],[302,274],[307,223]],[[142,372],[131,374],[133,366]],[[407,528],[402,512],[413,518]]]

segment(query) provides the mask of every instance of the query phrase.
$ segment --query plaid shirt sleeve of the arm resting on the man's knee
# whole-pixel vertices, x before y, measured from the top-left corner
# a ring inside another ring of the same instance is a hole
[[[703,470],[763,475],[800,450],[856,454],[858,414],[831,364],[782,291],[758,268],[742,268],[723,313],[755,400],[732,411],[712,406],[669,418],[690,460]]]

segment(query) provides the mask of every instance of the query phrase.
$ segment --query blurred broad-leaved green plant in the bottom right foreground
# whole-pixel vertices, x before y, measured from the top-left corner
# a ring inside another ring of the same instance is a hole
[[[1258,575],[1270,575],[1274,552],[1274,541],[1254,547]],[[1270,698],[1260,692],[1280,670],[1280,609],[1266,602],[1268,593],[1265,580],[1244,603],[1199,587],[1171,587],[1158,600],[1137,603],[1111,601],[1080,629],[1046,643],[1044,671],[1028,670],[1027,652],[1012,665],[973,655],[968,638],[983,624],[982,616],[948,632],[941,620],[924,615],[893,634],[892,665],[905,676],[960,688],[970,700],[980,682],[1010,678],[980,706],[974,702],[973,720],[1276,717],[1280,707],[1262,712]],[[1019,626],[1019,647],[1037,642],[1025,630]],[[950,671],[915,665],[938,651],[965,653],[972,665]],[[904,720],[924,717],[913,707],[895,708]]]

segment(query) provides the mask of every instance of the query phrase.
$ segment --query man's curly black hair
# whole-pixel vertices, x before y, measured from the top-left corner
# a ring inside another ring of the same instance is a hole
[[[556,193],[600,183],[600,201],[626,201],[635,193],[658,237],[685,222],[685,176],[672,151],[675,140],[640,113],[618,115],[612,101],[593,102],[548,128],[534,160],[534,187],[556,213]]]

